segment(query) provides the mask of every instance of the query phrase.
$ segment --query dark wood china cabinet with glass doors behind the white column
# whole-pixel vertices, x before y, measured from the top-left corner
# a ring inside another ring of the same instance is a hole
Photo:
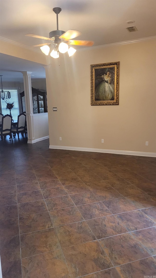
[[[26,101],[24,91],[20,93],[22,112],[26,111]],[[38,90],[32,87],[32,104],[33,113],[46,113],[47,112],[47,93],[43,90]]]

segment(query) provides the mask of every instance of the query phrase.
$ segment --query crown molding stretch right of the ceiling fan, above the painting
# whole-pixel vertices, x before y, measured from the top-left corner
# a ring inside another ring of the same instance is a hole
[[[91,47],[87,47],[87,48],[80,48],[80,49],[77,49],[77,51],[78,52],[79,51],[86,51],[86,50],[99,49],[99,48],[105,48],[105,47],[110,47],[110,46],[124,45],[124,44],[129,44],[129,43],[139,43],[141,41],[150,41],[152,39],[156,39],[156,36],[141,38],[141,39],[133,39],[133,40],[130,40],[130,41],[120,41],[119,43],[110,43],[110,44],[91,46]]]

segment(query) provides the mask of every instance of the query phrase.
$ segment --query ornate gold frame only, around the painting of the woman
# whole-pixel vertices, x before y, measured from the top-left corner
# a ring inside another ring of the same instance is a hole
[[[108,68],[114,68],[114,100],[95,100],[95,71]],[[120,62],[90,65],[91,105],[119,105],[119,73]]]

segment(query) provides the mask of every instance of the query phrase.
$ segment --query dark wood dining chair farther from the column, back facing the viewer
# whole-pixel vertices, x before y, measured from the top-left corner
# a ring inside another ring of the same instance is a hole
[[[13,143],[12,140],[12,133],[11,133],[11,125],[12,125],[12,116],[5,115],[2,117],[2,126],[1,126],[1,140],[4,143],[4,140],[6,139],[7,135],[10,135],[10,140]]]

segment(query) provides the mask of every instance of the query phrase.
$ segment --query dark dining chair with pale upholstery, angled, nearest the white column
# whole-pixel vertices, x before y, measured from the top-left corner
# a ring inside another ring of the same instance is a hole
[[[13,127],[11,132],[13,133],[13,137],[15,138],[16,133],[18,135],[18,140],[19,140],[19,133],[22,134],[22,137],[24,137],[24,133],[26,136],[26,114],[25,113],[21,113],[18,115],[18,119],[17,119],[17,126]],[[27,138],[27,136],[26,136]]]

